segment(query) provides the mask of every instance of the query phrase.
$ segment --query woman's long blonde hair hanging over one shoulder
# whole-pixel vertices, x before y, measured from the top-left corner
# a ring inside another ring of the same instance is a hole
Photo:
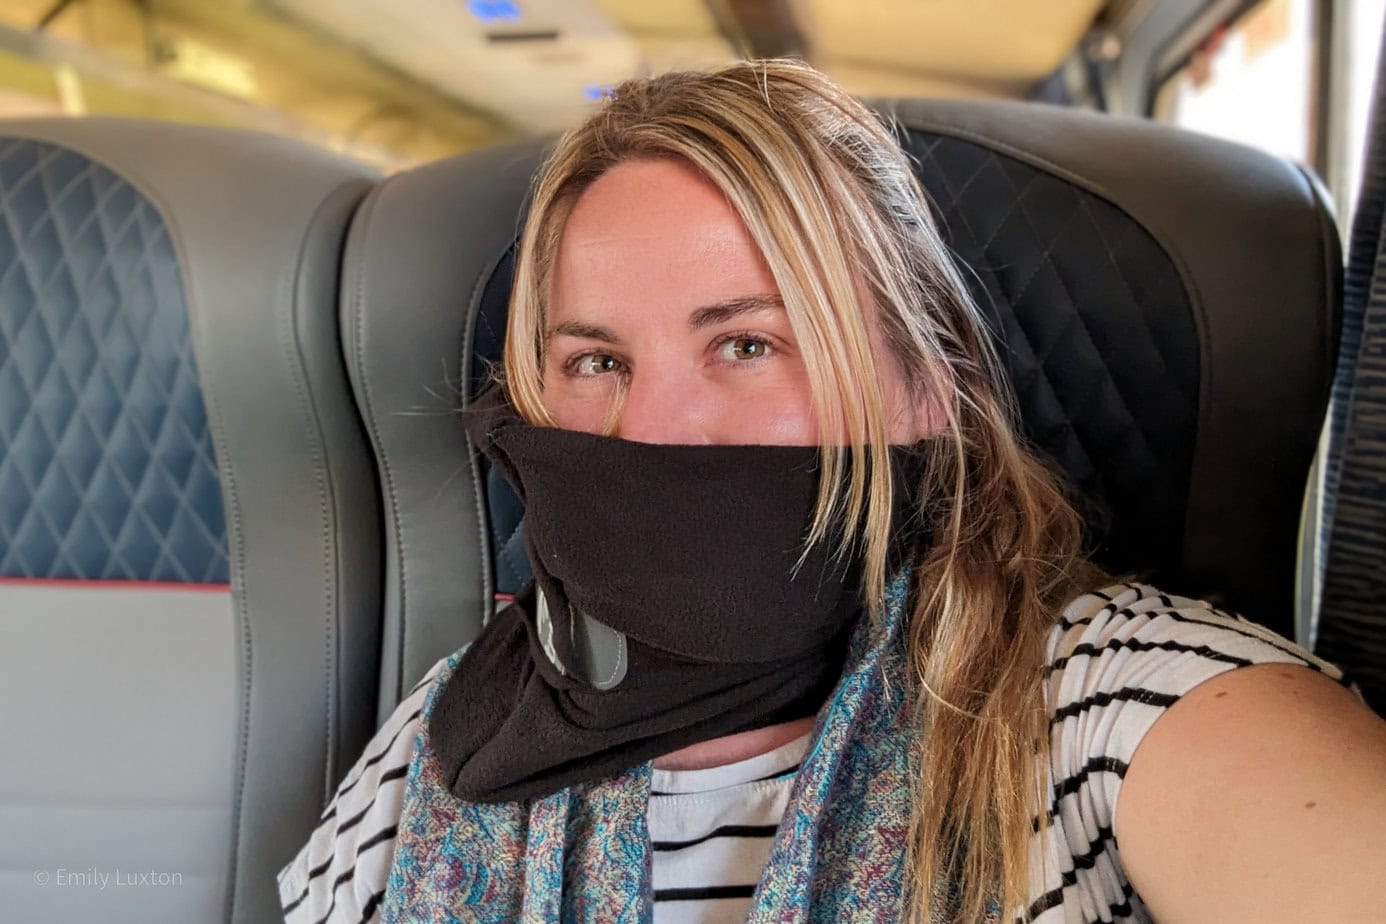
[[[967,917],[991,900],[1023,907],[1031,826],[1044,820],[1044,643],[1092,572],[1080,556],[1078,515],[1016,436],[983,320],[905,154],[866,107],[794,61],[618,86],[559,140],[521,238],[505,378],[532,423],[553,424],[543,405],[545,305],[563,227],[588,186],[635,158],[700,170],[775,276],[819,432],[845,436],[822,449],[808,544],[834,535],[861,542],[865,598],[879,616],[891,492],[913,492],[931,531],[911,578],[908,623],[919,741],[911,918],[929,920],[940,877],[956,884]],[[891,483],[873,323],[913,403],[931,402],[942,418],[920,485]]]

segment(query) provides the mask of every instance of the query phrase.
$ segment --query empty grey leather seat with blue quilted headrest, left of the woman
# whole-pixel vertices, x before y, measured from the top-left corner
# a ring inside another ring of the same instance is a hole
[[[119,375],[97,377],[72,391],[67,416],[144,414],[146,435],[177,425],[191,436],[161,454],[162,436],[143,452],[119,428],[73,428],[47,450],[6,431],[0,471],[50,452],[61,456],[51,471],[112,459],[130,481],[119,493],[116,475],[96,478],[67,504],[49,482],[0,479],[7,513],[49,504],[26,522],[51,526],[53,510],[72,513],[65,529],[0,532],[0,561],[40,562],[0,580],[0,917],[276,920],[274,873],[374,729],[380,507],[337,301],[346,226],[376,177],[281,139],[151,122],[10,122],[0,144],[11,143],[37,145],[40,173],[50,162],[90,165],[67,179],[43,173],[50,202],[90,186],[80,227],[35,211],[42,197],[25,197],[37,187],[0,188],[10,233],[15,216],[39,229],[15,237],[17,262],[32,270],[24,248],[50,224],[53,247],[67,248],[58,273],[71,284],[55,276],[35,299],[54,368],[71,375],[93,363],[89,339],[57,334],[72,316],[94,326],[91,344],[116,344],[101,359],[109,371],[155,362],[168,324],[186,314],[190,350],[166,353],[179,388],[133,395]],[[118,211],[112,197],[134,205]],[[139,234],[126,233],[126,212],[143,222]],[[80,230],[91,223],[101,236]],[[98,269],[89,278],[80,266]],[[90,284],[101,273],[116,283]],[[91,319],[143,317],[148,292],[175,308],[126,327],[143,339],[97,330],[105,321]],[[22,345],[7,335],[3,346]],[[215,460],[187,461],[204,439]],[[140,488],[184,464],[212,479],[195,517],[191,475]],[[112,504],[136,511],[126,522],[147,535],[90,526]],[[58,554],[40,561],[22,546],[43,549],[43,536],[57,536]],[[169,557],[198,543],[212,551],[195,574]]]

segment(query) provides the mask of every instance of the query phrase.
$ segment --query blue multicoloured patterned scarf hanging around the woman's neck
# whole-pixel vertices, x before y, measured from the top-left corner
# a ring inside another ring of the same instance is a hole
[[[819,711],[747,921],[900,921],[912,799],[912,723],[902,641],[908,580],[886,593],[884,625],[862,619],[848,668]],[[650,765],[534,802],[482,805],[452,794],[424,705],[405,788],[384,920],[649,924],[646,810]],[[936,885],[930,920],[951,921],[954,889]],[[990,921],[999,920],[992,907]]]

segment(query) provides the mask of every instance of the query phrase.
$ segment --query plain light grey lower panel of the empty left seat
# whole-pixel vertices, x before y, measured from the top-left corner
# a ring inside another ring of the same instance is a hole
[[[230,594],[0,586],[0,612],[3,917],[220,920],[238,747],[209,718],[240,708]]]

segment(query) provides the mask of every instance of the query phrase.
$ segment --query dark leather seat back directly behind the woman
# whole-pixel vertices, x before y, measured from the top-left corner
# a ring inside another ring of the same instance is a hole
[[[1098,560],[1293,634],[1340,301],[1313,179],[1145,122],[880,105],[991,313],[1027,435],[1082,492]],[[352,230],[352,380],[389,468],[384,672],[398,677],[383,713],[525,578],[518,501],[464,452],[456,410],[480,378],[470,367],[499,356],[541,148],[396,175]]]

